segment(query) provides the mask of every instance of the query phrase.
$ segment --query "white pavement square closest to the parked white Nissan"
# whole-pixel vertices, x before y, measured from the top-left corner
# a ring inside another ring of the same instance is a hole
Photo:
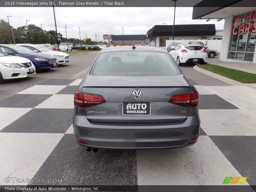
[[[35,85],[18,94],[42,94],[42,95],[53,95],[59,92],[66,85]]]

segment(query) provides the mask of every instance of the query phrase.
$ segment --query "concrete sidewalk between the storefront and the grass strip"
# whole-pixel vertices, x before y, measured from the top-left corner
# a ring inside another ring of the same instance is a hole
[[[220,57],[209,58],[208,63],[256,74],[256,63],[220,61]]]

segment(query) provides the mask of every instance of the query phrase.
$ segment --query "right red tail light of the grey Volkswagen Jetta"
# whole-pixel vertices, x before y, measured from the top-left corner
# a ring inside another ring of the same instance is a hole
[[[197,91],[190,93],[175,94],[172,95],[169,102],[184,107],[194,107],[199,104],[199,94]]]

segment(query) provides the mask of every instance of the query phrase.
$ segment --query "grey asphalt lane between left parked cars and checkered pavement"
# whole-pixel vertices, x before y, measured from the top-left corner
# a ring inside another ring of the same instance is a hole
[[[83,79],[98,53],[70,55],[71,62],[68,65],[42,71],[27,78],[5,80],[0,84],[0,100],[48,79]]]

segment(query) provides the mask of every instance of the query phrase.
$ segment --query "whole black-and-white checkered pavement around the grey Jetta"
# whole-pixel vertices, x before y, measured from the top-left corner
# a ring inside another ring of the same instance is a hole
[[[5,177],[62,179],[61,185],[222,185],[225,177],[241,176],[256,185],[256,90],[191,80],[200,94],[195,145],[94,153],[73,136],[73,94],[81,81],[49,79],[0,100],[0,185],[13,184]]]

